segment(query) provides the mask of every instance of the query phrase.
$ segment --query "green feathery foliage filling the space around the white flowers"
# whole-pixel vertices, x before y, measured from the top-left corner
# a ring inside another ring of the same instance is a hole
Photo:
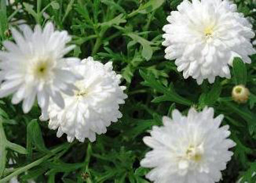
[[[164,59],[162,27],[166,17],[181,0],[15,0],[7,5],[0,0],[0,47],[12,40],[9,28],[25,21],[31,27],[51,20],[57,29],[66,29],[76,44],[71,56],[94,56],[103,63],[112,60],[114,70],[123,76],[129,98],[122,106],[123,118],[97,136],[95,143],[57,138],[47,122],[38,120],[37,105],[23,114],[20,104],[10,98],[0,101],[0,183],[19,176],[20,182],[64,183],[148,183],[149,171],[140,160],[149,149],[142,137],[164,115],[177,108],[186,114],[190,106],[201,110],[213,106],[216,115],[224,114],[231,138],[237,143],[234,156],[223,171],[223,181],[255,182],[256,171],[256,55],[252,64],[236,58],[232,78],[218,78],[214,84],[198,86],[184,80],[173,61]],[[254,0],[235,0],[238,10],[250,16],[256,27]],[[254,19],[253,19],[254,18]],[[19,20],[19,21],[18,21]],[[246,104],[231,99],[236,84],[251,91]],[[11,143],[12,142],[12,143]],[[16,164],[9,165],[10,159]]]

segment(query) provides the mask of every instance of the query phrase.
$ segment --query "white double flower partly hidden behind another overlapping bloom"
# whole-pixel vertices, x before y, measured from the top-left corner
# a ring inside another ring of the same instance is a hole
[[[118,109],[119,104],[124,104],[127,98],[123,92],[126,87],[119,86],[121,75],[112,70],[112,62],[103,65],[88,57],[72,69],[84,79],[75,83],[79,89],[75,96],[64,95],[64,109],[50,104],[49,128],[58,128],[58,137],[66,133],[68,142],[74,138],[80,142],[89,138],[93,142],[95,133],[106,133],[111,121],[116,122],[122,117]]]

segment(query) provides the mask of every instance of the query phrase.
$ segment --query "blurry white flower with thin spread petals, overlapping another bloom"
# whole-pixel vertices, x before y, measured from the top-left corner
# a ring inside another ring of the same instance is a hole
[[[65,68],[80,60],[63,58],[74,45],[66,46],[71,37],[67,31],[54,31],[53,23],[48,22],[43,30],[37,25],[34,32],[27,25],[20,29],[23,34],[12,29],[16,44],[4,41],[7,51],[0,52],[0,75],[4,80],[0,86],[0,97],[14,93],[12,103],[23,100],[25,113],[30,111],[37,98],[46,117],[49,98],[64,107],[61,92],[74,95],[73,83],[79,77]]]

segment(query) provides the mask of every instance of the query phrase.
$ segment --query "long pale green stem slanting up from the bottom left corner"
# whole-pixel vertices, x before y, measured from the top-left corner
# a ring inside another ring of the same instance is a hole
[[[8,182],[11,178],[18,176],[20,173],[26,172],[29,169],[41,164],[42,162],[46,161],[47,159],[49,159],[50,157],[52,157],[54,154],[56,154],[57,152],[61,151],[62,149],[66,149],[67,145],[69,144],[63,144],[55,149],[53,149],[50,154],[45,155],[44,157],[34,161],[33,163],[30,163],[22,168],[17,169],[16,171],[14,171],[13,173],[11,173],[10,175],[6,176],[5,178],[0,180],[0,183],[6,183]]]

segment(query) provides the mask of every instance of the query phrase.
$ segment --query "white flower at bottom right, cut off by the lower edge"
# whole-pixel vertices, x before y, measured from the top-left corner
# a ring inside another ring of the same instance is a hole
[[[153,127],[143,138],[153,148],[141,166],[154,168],[146,177],[155,183],[214,183],[222,178],[236,144],[227,139],[229,126],[219,127],[223,115],[214,118],[213,108],[202,112],[191,108],[188,116],[177,110],[172,120],[163,117],[163,127]]]

